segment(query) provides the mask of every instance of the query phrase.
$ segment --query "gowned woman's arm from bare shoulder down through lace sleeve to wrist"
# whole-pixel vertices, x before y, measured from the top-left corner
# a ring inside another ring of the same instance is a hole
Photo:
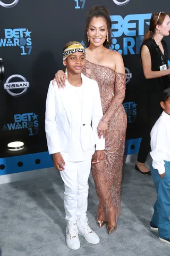
[[[114,52],[115,61],[115,92],[114,97],[105,113],[102,122],[108,123],[109,119],[116,113],[118,107],[122,104],[125,97],[125,69],[122,55]]]

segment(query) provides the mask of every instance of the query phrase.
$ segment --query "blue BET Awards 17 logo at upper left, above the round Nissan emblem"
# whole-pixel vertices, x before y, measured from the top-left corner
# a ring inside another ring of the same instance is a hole
[[[19,46],[21,55],[29,55],[32,50],[31,33],[28,28],[4,29],[5,38],[0,38],[0,47]]]

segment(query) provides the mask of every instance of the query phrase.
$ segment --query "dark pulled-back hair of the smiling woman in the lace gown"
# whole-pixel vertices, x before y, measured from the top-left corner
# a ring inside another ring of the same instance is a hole
[[[108,42],[107,42],[107,40],[105,40],[104,46],[109,49],[109,47],[112,45],[112,38],[111,38],[112,21],[108,14],[108,10],[105,6],[95,6],[88,13],[86,27],[85,27],[85,31],[84,31],[85,45],[86,45],[86,47],[89,47],[89,45],[90,45],[90,42],[88,42],[87,31],[89,28],[89,23],[91,22],[91,20],[94,17],[96,17],[96,18],[103,17],[106,20],[107,30],[108,30]]]

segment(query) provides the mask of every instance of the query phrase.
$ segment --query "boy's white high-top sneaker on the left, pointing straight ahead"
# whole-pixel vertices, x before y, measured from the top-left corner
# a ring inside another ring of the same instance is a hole
[[[66,227],[66,244],[72,250],[80,248],[77,223],[68,223]]]

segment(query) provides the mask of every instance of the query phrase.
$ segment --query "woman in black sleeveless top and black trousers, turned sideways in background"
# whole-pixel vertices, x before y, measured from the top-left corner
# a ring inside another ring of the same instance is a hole
[[[145,166],[145,161],[150,150],[151,128],[162,112],[159,95],[169,85],[168,50],[167,44],[163,40],[163,37],[168,36],[169,32],[169,15],[164,12],[155,13],[151,17],[149,30],[141,46],[142,67],[146,78],[143,92],[145,93],[147,106],[145,127],[135,169],[145,175],[151,175]]]

